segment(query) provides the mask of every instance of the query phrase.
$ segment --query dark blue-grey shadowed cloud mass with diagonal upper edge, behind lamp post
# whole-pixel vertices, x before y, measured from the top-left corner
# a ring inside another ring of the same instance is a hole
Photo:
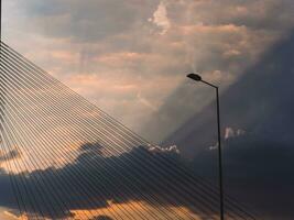
[[[227,127],[243,131],[224,143],[226,190],[269,219],[292,219],[294,215],[293,57],[294,32],[220,97],[222,131]],[[209,146],[216,134],[213,102],[166,143],[176,143],[182,154],[193,158],[195,170],[211,178],[217,176],[217,154]]]

